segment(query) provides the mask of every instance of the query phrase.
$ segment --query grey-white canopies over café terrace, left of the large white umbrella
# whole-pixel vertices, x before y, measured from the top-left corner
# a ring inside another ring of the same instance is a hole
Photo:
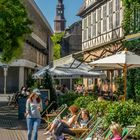
[[[72,56],[67,56],[54,61],[54,66],[46,66],[33,74],[34,78],[43,78],[46,71],[50,73],[53,78],[63,79],[63,78],[105,78],[105,74],[99,71],[90,71],[92,67],[85,63],[81,63],[78,60],[72,58]]]

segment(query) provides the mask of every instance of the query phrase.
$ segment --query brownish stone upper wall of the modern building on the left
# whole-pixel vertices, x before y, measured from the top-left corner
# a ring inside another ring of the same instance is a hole
[[[49,27],[47,27],[47,23],[45,23],[44,21],[45,19],[42,19],[42,17],[40,16],[40,10],[37,9],[38,7],[35,2],[33,0],[24,0],[24,3],[29,18],[33,21],[32,29],[37,38],[35,41],[33,41],[33,39],[31,39],[30,37],[27,37],[21,58],[27,59],[38,65],[45,66],[49,63],[48,61],[51,60],[51,58],[49,57],[52,57],[52,55],[50,54],[52,53],[52,44],[50,43],[50,37],[52,33]],[[43,43],[45,43],[45,46],[39,45],[37,43],[37,39],[41,39]]]

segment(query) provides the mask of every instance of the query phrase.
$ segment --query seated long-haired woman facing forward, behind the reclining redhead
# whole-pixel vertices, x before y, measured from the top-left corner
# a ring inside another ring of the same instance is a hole
[[[89,120],[90,120],[89,111],[82,110],[81,117],[76,122],[76,126],[78,126],[80,128],[87,127]]]

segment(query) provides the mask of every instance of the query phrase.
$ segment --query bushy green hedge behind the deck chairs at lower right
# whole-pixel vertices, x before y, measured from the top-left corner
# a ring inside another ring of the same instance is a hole
[[[131,134],[134,139],[140,139],[139,103],[132,100],[125,102],[98,101],[94,96],[86,96],[76,98],[74,104],[79,108],[87,109],[95,118],[101,117],[103,121],[102,129],[109,128],[111,122],[117,122],[122,127],[136,125],[136,129]]]

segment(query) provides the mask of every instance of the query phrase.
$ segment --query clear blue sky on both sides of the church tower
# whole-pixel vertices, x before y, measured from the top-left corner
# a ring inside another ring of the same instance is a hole
[[[67,20],[66,26],[71,25],[80,18],[76,16],[79,8],[82,6],[84,0],[63,0],[65,5],[65,18]],[[57,0],[35,0],[42,13],[50,23],[52,29],[54,28],[54,17]]]

